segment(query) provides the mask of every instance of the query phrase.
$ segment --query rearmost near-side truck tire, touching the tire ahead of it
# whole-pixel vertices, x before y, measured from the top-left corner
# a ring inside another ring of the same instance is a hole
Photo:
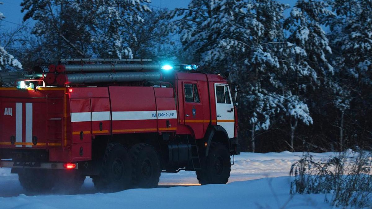
[[[101,192],[129,189],[132,182],[132,165],[126,148],[109,143],[103,158],[100,175],[93,177],[94,187]]]

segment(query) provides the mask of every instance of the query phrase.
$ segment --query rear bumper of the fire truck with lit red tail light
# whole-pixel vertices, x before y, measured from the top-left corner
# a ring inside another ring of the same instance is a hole
[[[76,168],[69,170],[77,170],[78,163]],[[0,168],[39,168],[39,169],[67,169],[64,166],[64,163],[27,163],[27,162],[16,162],[12,160],[0,160]]]

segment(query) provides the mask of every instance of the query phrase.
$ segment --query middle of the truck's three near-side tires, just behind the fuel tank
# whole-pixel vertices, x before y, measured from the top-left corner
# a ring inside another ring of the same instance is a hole
[[[135,144],[129,151],[133,167],[132,183],[137,188],[158,186],[161,166],[157,152],[148,144]]]

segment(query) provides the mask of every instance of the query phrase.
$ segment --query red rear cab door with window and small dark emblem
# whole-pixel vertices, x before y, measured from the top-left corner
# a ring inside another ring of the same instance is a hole
[[[183,104],[185,125],[190,126],[196,139],[204,137],[204,112],[197,82],[184,81]]]

